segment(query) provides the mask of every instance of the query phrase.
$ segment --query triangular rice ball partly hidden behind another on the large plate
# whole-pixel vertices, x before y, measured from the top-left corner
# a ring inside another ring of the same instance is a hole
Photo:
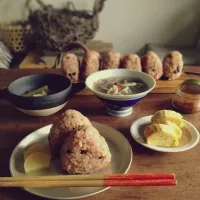
[[[56,120],[50,130],[48,139],[52,156],[60,155],[65,139],[81,126],[91,126],[89,119],[76,110],[66,110]]]

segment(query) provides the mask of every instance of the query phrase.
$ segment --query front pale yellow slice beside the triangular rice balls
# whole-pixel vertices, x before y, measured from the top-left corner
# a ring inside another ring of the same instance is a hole
[[[30,154],[24,162],[24,170],[28,174],[50,167],[50,158],[47,154],[35,152]]]

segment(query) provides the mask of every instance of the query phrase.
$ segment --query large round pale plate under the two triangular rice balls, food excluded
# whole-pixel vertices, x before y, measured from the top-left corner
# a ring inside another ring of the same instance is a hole
[[[97,171],[97,174],[126,173],[132,162],[132,149],[128,140],[116,129],[92,122],[92,125],[106,139],[111,155],[111,163]],[[10,172],[12,176],[26,176],[24,172],[24,149],[34,143],[48,144],[48,134],[52,125],[40,128],[25,137],[14,149],[10,157]],[[52,161],[47,171],[37,171],[34,175],[63,174],[59,159]],[[109,187],[60,187],[60,188],[24,188],[26,191],[50,199],[79,199],[103,192]]]

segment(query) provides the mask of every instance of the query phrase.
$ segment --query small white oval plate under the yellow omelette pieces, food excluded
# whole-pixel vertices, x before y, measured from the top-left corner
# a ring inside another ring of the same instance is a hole
[[[145,128],[151,123],[151,117],[146,116],[137,119],[133,124],[131,125],[130,131],[133,139],[138,142],[139,144],[149,148],[153,149],[155,151],[161,151],[161,152],[181,152],[186,151],[194,146],[196,146],[199,142],[199,131],[188,121],[184,121],[184,127],[182,128],[183,135],[181,139],[179,140],[179,146],[177,147],[159,147],[159,146],[153,146],[146,144],[145,138],[144,138],[144,130]]]

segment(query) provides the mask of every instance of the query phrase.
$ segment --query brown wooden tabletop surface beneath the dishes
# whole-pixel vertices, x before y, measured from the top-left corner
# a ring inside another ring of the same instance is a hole
[[[198,68],[185,68],[190,72],[200,72]],[[55,70],[42,72],[60,73]],[[38,73],[38,70],[0,70],[0,89],[26,74]],[[125,118],[110,117],[105,114],[102,103],[93,95],[73,96],[66,109],[76,109],[89,117],[90,120],[107,124],[118,129],[129,140],[133,149],[133,162],[128,173],[171,173],[176,174],[176,187],[113,187],[94,195],[90,200],[126,199],[126,200],[199,200],[200,198],[200,145],[180,153],[160,153],[149,150],[137,144],[130,135],[131,123],[143,116],[153,114],[159,109],[172,109],[173,94],[149,94],[136,106],[132,115]],[[81,103],[80,103],[81,102]],[[17,143],[27,134],[42,126],[51,124],[60,112],[49,117],[30,117],[15,109],[9,102],[0,100],[0,176],[10,176],[9,158]],[[200,129],[200,113],[184,115],[184,119]],[[2,200],[39,200],[18,188],[0,188]]]

